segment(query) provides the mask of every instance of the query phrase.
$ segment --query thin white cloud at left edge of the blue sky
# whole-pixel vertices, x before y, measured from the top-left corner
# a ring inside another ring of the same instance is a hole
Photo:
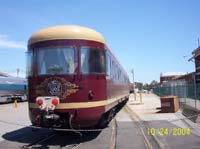
[[[0,34],[0,47],[3,48],[15,48],[15,49],[26,49],[26,46],[18,41],[12,41],[7,39],[8,35]]]

